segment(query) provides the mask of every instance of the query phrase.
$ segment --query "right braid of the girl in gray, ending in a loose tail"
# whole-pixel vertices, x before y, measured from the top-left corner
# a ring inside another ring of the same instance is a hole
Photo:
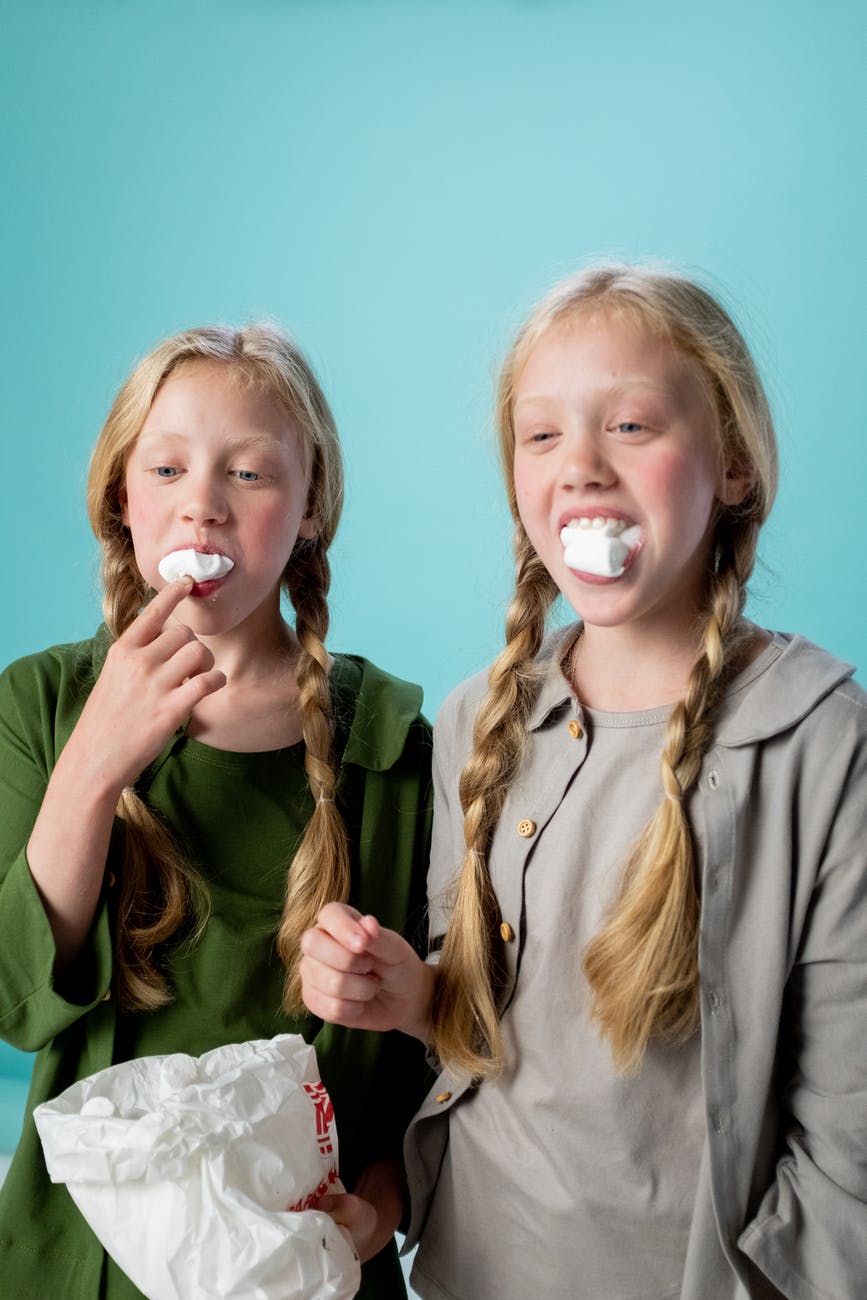
[[[584,954],[591,1014],[623,1074],[641,1065],[651,1037],[682,1040],[699,1018],[701,897],[684,798],[712,738],[714,714],[732,675],[744,624],[758,525],[723,530],[702,650],[666,731],[666,797],[627,862],[620,894]]]

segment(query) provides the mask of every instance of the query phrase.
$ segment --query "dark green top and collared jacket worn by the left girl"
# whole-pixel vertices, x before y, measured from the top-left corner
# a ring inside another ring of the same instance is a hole
[[[112,997],[112,930],[123,823],[116,822],[105,887],[75,985],[52,980],[53,941],[23,846],[55,760],[99,671],[108,634],[21,659],[0,677],[0,1035],[36,1052],[27,1119],[0,1190],[4,1297],[131,1300],[138,1290],[105,1256],[66,1188],[48,1180],[30,1114],[74,1080],[131,1057],[303,1034],[334,1102],[341,1176],[400,1152],[424,1096],[420,1044],[343,1030],[281,1010],[274,950],[286,874],[312,811],[304,748],[238,754],[178,731],[138,783],[207,880],[211,915],[195,945],[165,953],[174,1001],[123,1014]],[[331,672],[338,803],[351,841],[351,902],[424,948],[430,829],[430,731],[421,692],[364,659]],[[118,719],[118,725],[122,720]],[[363,1270],[360,1296],[406,1295],[394,1245]]]

